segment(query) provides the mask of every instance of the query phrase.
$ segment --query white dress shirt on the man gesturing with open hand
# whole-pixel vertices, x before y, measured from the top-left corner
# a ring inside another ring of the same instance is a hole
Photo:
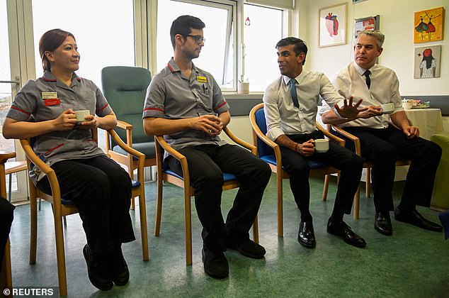
[[[295,79],[299,108],[293,105],[290,96],[290,77],[280,76],[268,85],[263,94],[266,136],[271,140],[283,134],[294,135],[316,131],[315,121],[320,95],[331,106],[343,101],[343,97],[335,91],[329,79],[321,72],[302,70]]]

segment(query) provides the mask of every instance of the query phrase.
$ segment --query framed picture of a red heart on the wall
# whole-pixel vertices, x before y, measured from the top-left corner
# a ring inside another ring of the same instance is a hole
[[[346,43],[347,7],[343,3],[319,9],[319,48]]]

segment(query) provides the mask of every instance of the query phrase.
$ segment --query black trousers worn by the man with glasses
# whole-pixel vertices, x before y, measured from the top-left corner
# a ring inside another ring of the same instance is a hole
[[[249,238],[249,229],[256,219],[263,191],[271,176],[266,162],[237,145],[196,145],[178,151],[187,158],[205,247],[224,251],[225,241],[238,242]],[[169,156],[166,162],[171,170],[182,175],[178,160]],[[235,175],[240,182],[226,225],[220,206],[224,183],[222,172]]]

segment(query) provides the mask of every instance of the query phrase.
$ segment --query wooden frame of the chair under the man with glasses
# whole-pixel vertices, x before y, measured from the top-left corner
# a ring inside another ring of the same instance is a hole
[[[237,136],[229,130],[229,128],[223,128],[224,133],[229,136],[229,138],[241,145],[242,147],[248,149],[256,154],[256,147],[246,143],[244,140],[237,138]],[[161,214],[162,214],[162,197],[163,197],[163,183],[164,181],[170,182],[178,187],[184,189],[184,218],[185,218],[185,234],[186,234],[186,265],[192,265],[192,220],[191,220],[191,197],[195,194],[195,189],[191,186],[190,175],[188,172],[187,158],[179,153],[178,151],[171,148],[171,146],[166,143],[163,136],[154,136],[156,144],[156,158],[157,158],[157,206],[156,206],[156,223],[154,226],[154,236],[159,237],[159,232],[161,230]],[[164,150],[174,156],[177,160],[181,162],[181,167],[183,169],[184,179],[180,179],[174,175],[169,175],[163,170],[164,162]],[[223,190],[234,189],[240,186],[239,181],[230,180],[224,182]],[[253,223],[253,238],[256,243],[258,243],[258,221],[257,216]]]

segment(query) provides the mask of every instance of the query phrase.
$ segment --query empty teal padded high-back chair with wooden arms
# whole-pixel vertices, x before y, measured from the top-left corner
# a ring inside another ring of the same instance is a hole
[[[128,146],[145,155],[145,167],[156,165],[154,138],[145,135],[142,121],[145,95],[151,79],[151,72],[142,67],[109,66],[101,70],[103,94],[118,119],[114,130]],[[138,160],[120,148],[107,132],[106,153],[125,165],[133,179]],[[134,200],[131,209],[134,209]]]

